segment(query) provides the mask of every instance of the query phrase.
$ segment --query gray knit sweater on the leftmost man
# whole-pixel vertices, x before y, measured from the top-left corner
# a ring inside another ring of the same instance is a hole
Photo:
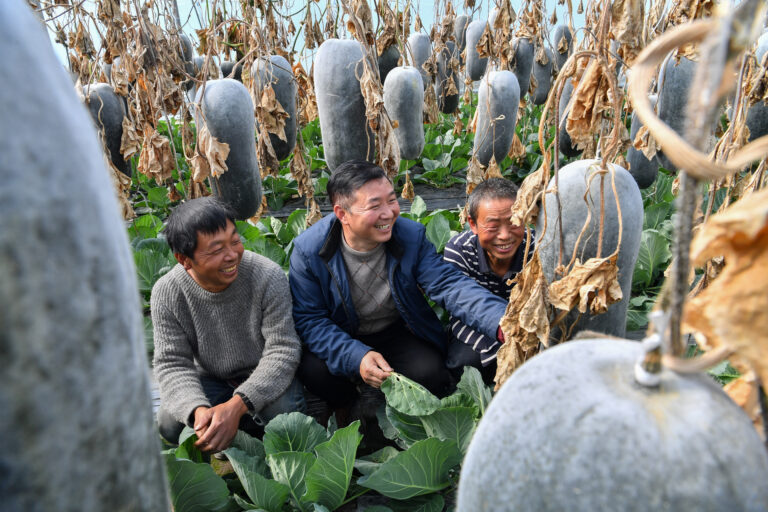
[[[301,357],[291,316],[291,292],[282,269],[245,251],[238,276],[218,293],[198,285],[177,264],[152,288],[154,371],[160,399],[182,423],[211,404],[199,374],[248,378],[236,390],[253,411],[282,395]]]

